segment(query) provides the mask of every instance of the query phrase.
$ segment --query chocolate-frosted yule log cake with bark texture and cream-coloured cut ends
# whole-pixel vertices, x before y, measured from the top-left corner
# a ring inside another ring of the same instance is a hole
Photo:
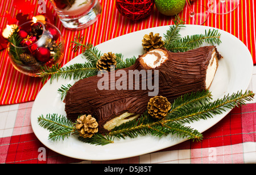
[[[108,132],[115,126],[143,114],[149,99],[152,98],[150,92],[162,95],[172,102],[180,95],[209,89],[221,57],[214,46],[179,53],[154,49],[139,56],[135,64],[129,68],[77,81],[68,90],[64,99],[67,118],[76,120],[82,114],[90,114],[96,118],[99,132]],[[150,86],[143,88],[144,76],[138,75],[141,70],[146,72],[146,80],[150,80],[152,85],[155,84],[154,89]],[[134,77],[139,77],[138,90],[135,90],[134,85],[138,85],[138,80],[128,76],[131,72]],[[114,74],[114,79],[113,73],[118,74]],[[102,77],[109,82],[104,82],[108,86],[105,89],[98,87]],[[122,88],[120,89],[117,84]]]

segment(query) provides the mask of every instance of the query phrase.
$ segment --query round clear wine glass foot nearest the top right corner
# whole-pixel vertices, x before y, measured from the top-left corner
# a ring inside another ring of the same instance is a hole
[[[240,4],[240,0],[209,0],[209,12],[223,15],[234,11]]]

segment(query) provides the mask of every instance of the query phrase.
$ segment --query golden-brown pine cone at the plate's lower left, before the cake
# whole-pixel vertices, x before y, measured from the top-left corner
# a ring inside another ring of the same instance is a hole
[[[92,138],[98,132],[98,122],[92,115],[82,115],[76,121],[76,129],[83,138]]]

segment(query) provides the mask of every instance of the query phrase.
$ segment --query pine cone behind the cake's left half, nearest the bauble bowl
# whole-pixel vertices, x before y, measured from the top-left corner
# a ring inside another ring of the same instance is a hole
[[[114,70],[113,68],[115,68],[115,65],[117,65],[117,61],[115,60],[116,58],[117,57],[112,52],[104,53],[104,55],[101,56],[101,59],[98,60],[96,67],[99,70],[106,70],[108,72]]]

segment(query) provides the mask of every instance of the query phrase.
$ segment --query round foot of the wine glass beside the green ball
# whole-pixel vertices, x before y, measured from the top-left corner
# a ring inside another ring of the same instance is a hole
[[[186,16],[186,21],[189,24],[201,25],[203,24],[209,16],[207,7],[202,5],[191,5],[189,0],[186,0],[188,6],[188,14]]]

